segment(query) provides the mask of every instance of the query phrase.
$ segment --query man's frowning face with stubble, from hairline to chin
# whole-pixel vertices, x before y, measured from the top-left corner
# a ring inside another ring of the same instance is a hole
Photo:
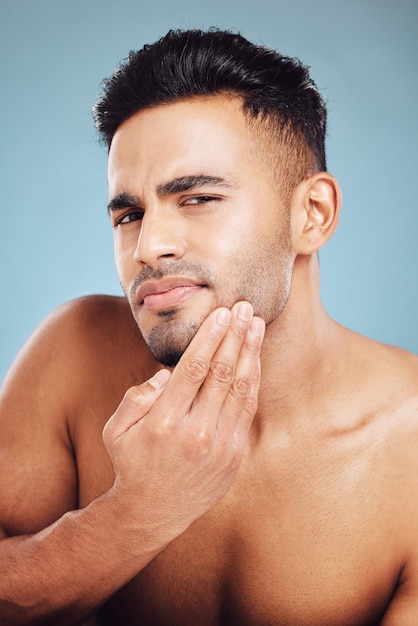
[[[259,156],[261,141],[240,102],[224,96],[141,111],[113,138],[116,266],[134,318],[165,365],[177,362],[216,307],[248,300],[268,324],[286,304],[289,209]]]

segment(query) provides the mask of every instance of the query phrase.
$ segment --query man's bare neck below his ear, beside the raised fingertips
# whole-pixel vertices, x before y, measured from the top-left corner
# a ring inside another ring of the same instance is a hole
[[[266,329],[261,356],[257,430],[312,415],[338,363],[339,327],[325,312],[316,256],[298,257],[282,314]]]

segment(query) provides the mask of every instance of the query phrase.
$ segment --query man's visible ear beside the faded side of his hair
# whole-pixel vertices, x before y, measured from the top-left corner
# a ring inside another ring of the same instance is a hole
[[[334,234],[341,207],[340,186],[328,172],[303,180],[291,199],[293,247],[296,254],[313,254]]]

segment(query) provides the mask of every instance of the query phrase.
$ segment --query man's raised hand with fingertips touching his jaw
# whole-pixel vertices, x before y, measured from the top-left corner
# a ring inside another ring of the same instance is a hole
[[[213,311],[170,374],[128,390],[105,426],[114,491],[145,541],[166,544],[230,487],[257,408],[264,322]]]

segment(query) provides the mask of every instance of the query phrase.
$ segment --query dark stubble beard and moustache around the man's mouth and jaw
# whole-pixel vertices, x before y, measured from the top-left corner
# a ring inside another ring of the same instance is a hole
[[[162,260],[158,268],[145,266],[130,286],[128,300],[138,327],[154,358],[166,367],[174,367],[190,344],[203,319],[210,311],[202,311],[200,319],[179,319],[178,310],[161,311],[162,322],[145,334],[135,315],[136,293],[147,280],[161,280],[166,276],[184,276],[204,285],[214,294],[213,309],[232,307],[235,302],[247,300],[268,325],[286,306],[292,282],[294,257],[291,254],[289,224],[278,225],[269,240],[253,245],[251,255],[225,259],[229,272],[222,272],[222,280],[198,263],[183,259]],[[221,268],[223,269],[223,268]],[[126,291],[125,291],[126,293]]]

